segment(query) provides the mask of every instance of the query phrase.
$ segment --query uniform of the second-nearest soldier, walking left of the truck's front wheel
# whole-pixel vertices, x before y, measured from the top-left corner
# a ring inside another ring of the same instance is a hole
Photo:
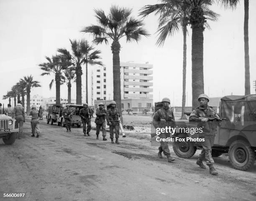
[[[164,107],[160,108],[153,116],[152,124],[155,128],[175,127],[175,118],[171,109]],[[160,133],[159,138],[168,138],[170,133]],[[170,155],[170,150],[167,141],[160,141],[159,152],[164,152],[164,155]]]

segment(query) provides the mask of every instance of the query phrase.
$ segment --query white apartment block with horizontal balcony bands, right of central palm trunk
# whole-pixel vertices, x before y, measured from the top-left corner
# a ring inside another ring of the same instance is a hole
[[[153,98],[153,65],[120,63],[121,98]]]

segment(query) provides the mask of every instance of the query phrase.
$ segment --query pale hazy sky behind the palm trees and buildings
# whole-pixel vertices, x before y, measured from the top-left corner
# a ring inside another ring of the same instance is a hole
[[[109,12],[111,5],[129,7],[138,17],[144,5],[159,3],[157,0],[0,0],[0,103],[3,95],[20,78],[33,75],[42,87],[32,89],[31,95],[55,97],[55,88],[49,90],[51,76],[41,76],[38,64],[46,62],[45,56],[56,54],[57,48],[70,50],[69,39],[92,40],[90,34],[81,33],[85,26],[97,24],[94,9]],[[244,95],[244,6],[240,0],[236,10],[225,10],[218,5],[211,9],[220,14],[217,22],[208,21],[210,30],[204,31],[204,87],[210,97]],[[255,93],[256,80],[256,1],[249,1],[249,56],[251,93]],[[144,19],[145,28],[151,34],[138,43],[120,40],[120,61],[150,63],[153,68],[154,101],[164,97],[171,99],[172,106],[182,103],[182,31],[167,38],[162,47],[157,40],[158,16],[151,14]],[[191,79],[191,28],[187,35],[187,106],[192,105]],[[97,45],[101,50],[102,63],[107,68],[107,94],[113,94],[113,63],[110,44]],[[90,67],[92,68],[92,67]],[[85,70],[84,70],[85,71]],[[75,83],[72,98],[76,97]],[[85,74],[82,75],[82,96],[85,98]],[[67,97],[67,85],[61,86],[61,97]],[[107,97],[108,98],[108,97]],[[111,96],[110,96],[111,98]]]

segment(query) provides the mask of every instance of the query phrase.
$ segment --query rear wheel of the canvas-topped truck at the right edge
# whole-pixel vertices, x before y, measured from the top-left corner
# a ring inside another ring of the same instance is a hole
[[[228,158],[233,168],[246,171],[253,166],[255,153],[248,142],[237,140],[230,145]]]

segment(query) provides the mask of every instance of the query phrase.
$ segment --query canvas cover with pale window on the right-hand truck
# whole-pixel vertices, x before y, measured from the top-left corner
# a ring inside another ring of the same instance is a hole
[[[256,95],[228,95],[221,98],[222,128],[256,131]]]

